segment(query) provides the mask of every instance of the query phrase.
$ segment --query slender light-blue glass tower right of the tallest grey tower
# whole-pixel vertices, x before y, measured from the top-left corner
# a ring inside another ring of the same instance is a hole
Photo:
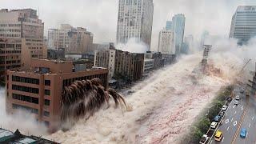
[[[175,14],[172,20],[172,28],[174,31],[175,54],[179,55],[182,50],[182,43],[185,30],[185,16],[184,14]]]

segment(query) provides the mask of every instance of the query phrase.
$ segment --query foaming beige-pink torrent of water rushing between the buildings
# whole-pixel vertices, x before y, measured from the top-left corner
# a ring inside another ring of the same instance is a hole
[[[202,54],[181,58],[173,66],[156,71],[125,95],[132,111],[99,110],[87,121],[81,119],[69,131],[47,136],[63,143],[179,143],[197,115],[221,86],[230,82],[230,62],[215,59],[222,78],[193,73]]]

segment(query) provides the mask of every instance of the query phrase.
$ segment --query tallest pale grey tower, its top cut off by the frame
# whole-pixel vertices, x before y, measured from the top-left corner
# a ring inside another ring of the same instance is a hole
[[[153,13],[153,0],[119,0],[117,43],[135,38],[150,47]]]

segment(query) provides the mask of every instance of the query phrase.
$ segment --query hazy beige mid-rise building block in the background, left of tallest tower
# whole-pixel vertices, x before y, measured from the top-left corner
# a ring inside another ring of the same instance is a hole
[[[85,28],[74,28],[69,24],[62,24],[60,29],[48,30],[48,46],[58,50],[64,48],[66,53],[82,54],[91,51],[94,35]]]

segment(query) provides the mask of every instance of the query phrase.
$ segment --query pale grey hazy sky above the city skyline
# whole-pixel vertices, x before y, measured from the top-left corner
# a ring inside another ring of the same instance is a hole
[[[33,8],[47,29],[62,23],[86,27],[94,42],[115,42],[118,0],[0,0],[1,8]],[[185,34],[198,38],[203,30],[228,36],[231,17],[239,5],[256,5],[256,0],[154,0],[152,47],[158,46],[158,32],[174,14],[186,16]]]

